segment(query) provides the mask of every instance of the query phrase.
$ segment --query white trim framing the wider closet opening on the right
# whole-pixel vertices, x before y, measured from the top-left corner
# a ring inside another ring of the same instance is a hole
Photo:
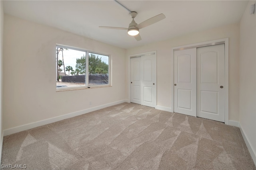
[[[172,106],[171,106],[171,111],[173,112],[174,110],[174,51],[177,50],[184,50],[184,49],[191,49],[191,48],[197,48],[197,47],[206,47],[210,45],[218,45],[218,44],[225,44],[225,124],[228,125],[228,38],[224,39],[216,39],[212,41],[205,41],[201,43],[194,43],[194,44],[189,44],[189,45],[182,45],[178,47],[173,47],[172,52],[171,52],[171,70],[172,70],[172,78],[171,78],[171,96],[172,96]]]

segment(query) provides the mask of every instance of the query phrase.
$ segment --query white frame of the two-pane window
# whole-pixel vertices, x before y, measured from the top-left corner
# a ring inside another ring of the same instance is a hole
[[[78,48],[78,47],[71,47],[71,46],[67,46],[67,45],[61,45],[61,44],[56,44],[56,47],[62,47],[62,48],[67,48],[67,49],[86,52],[86,83],[85,83],[85,85],[80,86],[80,87],[59,87],[59,88],[56,87],[56,92],[66,91],[66,90],[90,89],[90,88],[101,88],[101,87],[110,87],[110,86],[112,86],[112,57],[111,57],[110,54],[101,53],[101,52],[98,52],[98,51],[91,51],[91,50],[82,49],[82,48]],[[90,86],[88,85],[89,84],[89,74],[88,74],[89,53],[94,53],[96,55],[98,54],[98,55],[108,56],[108,84],[99,84],[99,85],[90,85]],[[55,66],[56,66],[56,76],[57,76],[57,71],[58,71],[57,63],[55,64]],[[56,84],[55,84],[55,86],[56,86]]]

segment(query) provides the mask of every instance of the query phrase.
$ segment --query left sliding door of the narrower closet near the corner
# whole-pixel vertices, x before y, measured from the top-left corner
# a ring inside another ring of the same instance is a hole
[[[131,102],[141,104],[141,57],[131,58]]]

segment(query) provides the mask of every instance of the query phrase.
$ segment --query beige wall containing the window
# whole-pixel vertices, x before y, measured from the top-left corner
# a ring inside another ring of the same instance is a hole
[[[4,20],[4,129],[126,99],[125,49],[7,14]],[[112,87],[56,92],[56,43],[112,55]]]

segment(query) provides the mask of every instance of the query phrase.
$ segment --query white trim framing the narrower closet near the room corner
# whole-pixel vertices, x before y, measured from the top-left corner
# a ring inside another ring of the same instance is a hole
[[[128,55],[128,59],[129,59],[129,61],[128,61],[128,101],[129,102],[131,102],[131,86],[130,86],[130,82],[131,82],[131,58],[142,57],[142,56],[153,55],[153,54],[156,55],[156,57],[157,57],[156,51],[149,51],[149,52],[146,52],[146,53]],[[157,84],[157,61],[156,61],[156,84]],[[156,106],[157,106],[157,86],[156,86]]]

